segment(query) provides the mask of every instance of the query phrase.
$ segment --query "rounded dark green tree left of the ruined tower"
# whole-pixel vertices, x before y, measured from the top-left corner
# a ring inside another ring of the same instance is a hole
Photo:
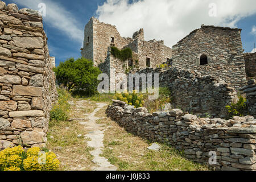
[[[56,73],[57,84],[65,86],[74,94],[91,96],[97,92],[97,77],[101,71],[93,67],[91,60],[81,57],[75,61],[71,58],[61,62],[53,71]]]

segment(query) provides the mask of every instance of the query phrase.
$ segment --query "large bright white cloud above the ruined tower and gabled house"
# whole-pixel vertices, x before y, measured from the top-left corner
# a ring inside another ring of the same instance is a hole
[[[164,40],[173,46],[201,24],[236,27],[246,16],[256,13],[255,0],[106,0],[98,6],[97,18],[117,26],[122,36],[132,36],[144,28],[145,39]],[[209,16],[209,5],[217,5],[217,16]]]

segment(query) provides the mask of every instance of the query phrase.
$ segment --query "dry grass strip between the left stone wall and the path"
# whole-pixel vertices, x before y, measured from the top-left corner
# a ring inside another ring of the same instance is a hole
[[[75,110],[72,106],[72,110]],[[83,112],[81,112],[83,113]],[[73,113],[79,117],[81,113]],[[82,137],[77,137],[81,134]],[[83,125],[79,121],[65,122],[65,121],[50,121],[49,131],[47,135],[47,148],[57,155],[61,162],[60,170],[90,170],[93,166],[93,156],[90,151],[93,148],[86,146],[88,139],[83,136],[87,134]]]

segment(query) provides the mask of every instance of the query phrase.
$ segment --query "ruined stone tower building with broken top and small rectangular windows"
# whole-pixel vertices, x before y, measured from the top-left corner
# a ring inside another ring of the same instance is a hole
[[[94,65],[97,66],[105,62],[108,48],[111,46],[118,49],[129,47],[133,51],[134,60],[127,61],[125,68],[129,65],[131,67],[136,65],[138,68],[156,68],[172,57],[172,49],[164,46],[163,40],[145,41],[143,29],[135,32],[133,38],[123,38],[115,26],[90,18],[85,26],[82,56],[93,60]]]

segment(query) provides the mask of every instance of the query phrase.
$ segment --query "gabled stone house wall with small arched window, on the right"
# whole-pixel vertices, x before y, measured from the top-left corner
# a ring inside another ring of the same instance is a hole
[[[207,65],[200,65],[206,55]],[[172,65],[214,75],[237,88],[246,84],[241,29],[202,26],[172,47]]]

